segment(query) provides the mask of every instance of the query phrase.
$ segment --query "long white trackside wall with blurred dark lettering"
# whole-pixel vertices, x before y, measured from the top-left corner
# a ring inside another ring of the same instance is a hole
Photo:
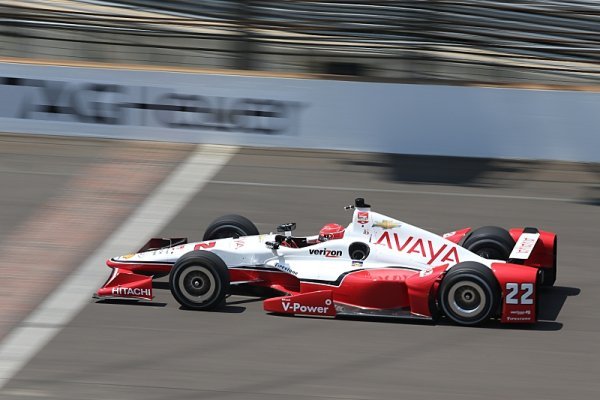
[[[600,94],[0,63],[0,130],[600,162]]]

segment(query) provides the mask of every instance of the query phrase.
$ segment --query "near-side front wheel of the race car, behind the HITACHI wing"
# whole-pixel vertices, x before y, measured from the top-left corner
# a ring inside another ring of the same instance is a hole
[[[175,300],[193,310],[212,310],[229,291],[229,271],[219,256],[198,250],[184,254],[169,274]]]

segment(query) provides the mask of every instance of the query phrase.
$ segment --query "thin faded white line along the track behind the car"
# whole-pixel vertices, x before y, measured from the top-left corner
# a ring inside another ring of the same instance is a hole
[[[576,199],[567,197],[537,197],[537,196],[516,196],[503,194],[484,194],[484,193],[458,193],[458,192],[435,192],[424,190],[403,190],[403,189],[376,189],[376,188],[360,188],[343,187],[343,186],[318,186],[318,185],[290,185],[286,183],[262,183],[262,182],[236,182],[236,181],[210,181],[218,185],[234,185],[234,186],[257,186],[257,187],[274,187],[285,189],[316,189],[316,190],[340,190],[346,192],[365,192],[365,193],[398,193],[398,194],[416,194],[429,196],[451,196],[451,197],[480,197],[487,199],[512,199],[512,200],[535,200],[535,201],[555,201],[561,203],[574,202]]]

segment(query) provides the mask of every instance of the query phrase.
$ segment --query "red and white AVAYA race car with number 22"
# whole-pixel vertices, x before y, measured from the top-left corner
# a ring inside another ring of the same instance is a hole
[[[448,319],[479,325],[534,323],[538,292],[556,279],[557,236],[537,228],[486,226],[437,235],[371,210],[358,198],[346,227],[294,236],[295,223],[258,234],[240,215],[207,228],[203,241],[153,238],[113,269],[97,298],[151,300],[152,279],[169,275],[188,309],[220,307],[233,285],[275,289],[274,314]]]

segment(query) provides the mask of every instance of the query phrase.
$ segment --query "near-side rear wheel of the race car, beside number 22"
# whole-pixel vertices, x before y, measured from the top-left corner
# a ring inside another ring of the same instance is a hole
[[[500,288],[491,269],[474,261],[452,267],[440,285],[442,312],[459,325],[479,325],[498,309]]]

